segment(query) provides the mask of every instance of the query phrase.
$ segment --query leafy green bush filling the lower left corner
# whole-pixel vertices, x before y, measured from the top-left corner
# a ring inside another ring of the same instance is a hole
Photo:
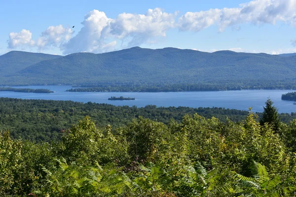
[[[26,196],[44,175],[40,164],[52,162],[48,144],[12,140],[9,132],[0,133],[0,196]]]

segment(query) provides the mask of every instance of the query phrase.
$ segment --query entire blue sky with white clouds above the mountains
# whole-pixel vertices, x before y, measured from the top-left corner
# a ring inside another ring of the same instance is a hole
[[[3,0],[0,18],[0,55],[134,46],[296,52],[296,0]]]

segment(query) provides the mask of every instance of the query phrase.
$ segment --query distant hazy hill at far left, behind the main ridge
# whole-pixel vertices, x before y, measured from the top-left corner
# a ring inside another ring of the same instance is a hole
[[[0,56],[0,76],[9,76],[15,71],[22,70],[43,60],[52,60],[59,57],[62,56],[44,53],[10,51]]]

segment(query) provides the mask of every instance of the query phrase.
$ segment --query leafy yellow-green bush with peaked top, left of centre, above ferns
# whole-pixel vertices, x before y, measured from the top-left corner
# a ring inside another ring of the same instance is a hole
[[[88,116],[65,131],[62,141],[56,145],[59,156],[79,164],[111,163],[115,158],[125,157],[123,148],[112,135],[111,126],[100,131]]]

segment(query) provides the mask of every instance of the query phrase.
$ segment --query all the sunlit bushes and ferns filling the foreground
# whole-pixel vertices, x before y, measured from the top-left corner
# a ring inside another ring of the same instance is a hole
[[[256,119],[194,114],[165,125],[139,117],[98,129],[85,117],[51,144],[2,131],[0,196],[295,196],[296,120],[275,129]]]

